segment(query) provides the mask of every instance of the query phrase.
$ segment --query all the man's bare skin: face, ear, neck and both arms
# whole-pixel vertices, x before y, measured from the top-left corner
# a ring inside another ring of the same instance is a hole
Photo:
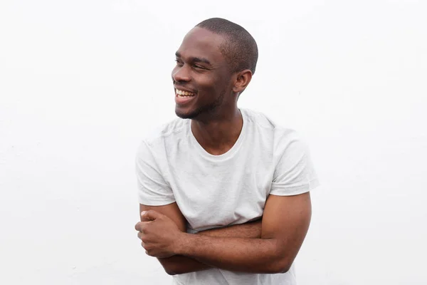
[[[192,29],[176,53],[172,71],[174,88],[196,94],[189,100],[177,100],[176,115],[191,118],[194,137],[212,155],[227,152],[238,139],[243,125],[238,94],[252,78],[250,70],[230,71],[220,49],[223,41],[223,36],[204,28]],[[142,247],[169,274],[210,267],[250,273],[288,271],[311,218],[310,193],[269,195],[261,223],[200,234],[186,233],[186,220],[176,203],[140,205],[139,209],[147,211],[135,225]]]

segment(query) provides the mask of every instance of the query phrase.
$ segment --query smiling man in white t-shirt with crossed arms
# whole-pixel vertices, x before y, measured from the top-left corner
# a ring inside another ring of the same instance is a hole
[[[237,107],[257,60],[244,28],[202,21],[176,51],[179,118],[139,147],[135,229],[174,284],[296,284],[317,178],[294,131]]]

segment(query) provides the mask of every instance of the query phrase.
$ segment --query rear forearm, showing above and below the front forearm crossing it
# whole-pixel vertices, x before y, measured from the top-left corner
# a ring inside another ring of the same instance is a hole
[[[198,232],[197,234],[209,237],[257,238],[261,236],[261,220],[248,222],[246,224],[236,224],[230,227],[208,229],[203,232]],[[201,261],[182,255],[174,255],[173,257],[159,259],[159,261],[169,275],[196,272],[211,268],[211,266]]]

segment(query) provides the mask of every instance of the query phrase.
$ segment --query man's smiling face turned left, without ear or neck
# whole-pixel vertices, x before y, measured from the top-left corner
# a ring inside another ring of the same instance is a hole
[[[222,36],[196,27],[176,51],[172,80],[180,118],[220,115],[231,102],[231,73],[219,49],[222,42]]]

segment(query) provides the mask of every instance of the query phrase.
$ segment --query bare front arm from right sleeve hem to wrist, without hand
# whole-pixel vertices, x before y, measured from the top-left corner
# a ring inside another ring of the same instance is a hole
[[[181,233],[173,250],[230,271],[285,272],[300,250],[310,218],[310,192],[295,196],[270,195],[265,203],[260,239]]]

